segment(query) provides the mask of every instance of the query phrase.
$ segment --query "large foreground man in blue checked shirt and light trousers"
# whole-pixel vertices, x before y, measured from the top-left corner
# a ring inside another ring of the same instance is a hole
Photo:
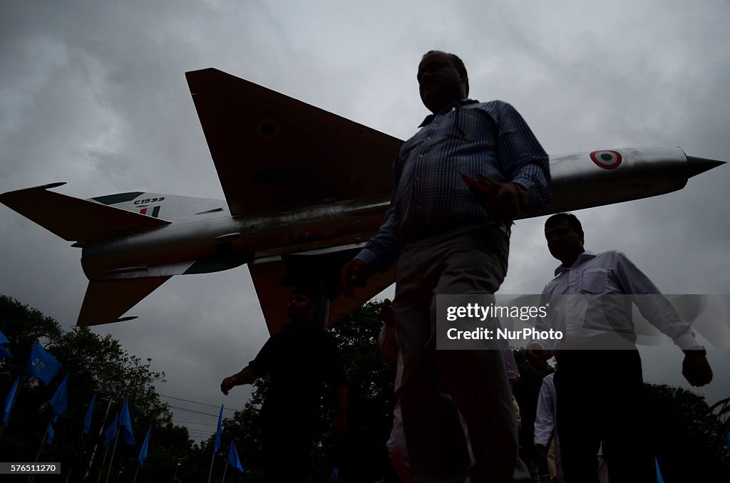
[[[399,401],[413,480],[529,481],[502,352],[437,351],[434,321],[437,294],[492,294],[502,284],[511,220],[550,196],[548,155],[510,104],[466,98],[469,78],[456,55],[426,53],[417,79],[432,114],[401,147],[383,225],[342,269],[342,284],[352,294],[398,259]],[[477,198],[460,173],[488,177],[493,193]]]

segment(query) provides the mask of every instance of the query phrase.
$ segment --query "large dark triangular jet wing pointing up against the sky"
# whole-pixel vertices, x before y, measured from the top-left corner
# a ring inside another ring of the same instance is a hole
[[[231,215],[391,192],[400,139],[217,69],[185,76]]]

